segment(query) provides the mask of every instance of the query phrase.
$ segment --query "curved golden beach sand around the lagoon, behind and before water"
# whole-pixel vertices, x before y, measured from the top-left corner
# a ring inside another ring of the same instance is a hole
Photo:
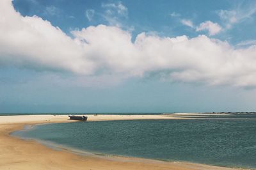
[[[88,121],[181,119],[177,115],[89,115]],[[32,140],[10,136],[25,125],[74,122],[65,115],[0,116],[0,169],[233,169],[187,162],[163,162],[143,158],[76,155],[53,150]]]

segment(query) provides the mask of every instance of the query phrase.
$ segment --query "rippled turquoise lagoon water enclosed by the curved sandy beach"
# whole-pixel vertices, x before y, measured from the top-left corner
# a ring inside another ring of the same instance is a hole
[[[13,135],[108,155],[256,168],[255,119],[88,121]]]

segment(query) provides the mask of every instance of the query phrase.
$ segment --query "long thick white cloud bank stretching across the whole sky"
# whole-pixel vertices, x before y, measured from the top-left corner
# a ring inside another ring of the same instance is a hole
[[[74,38],[40,17],[22,17],[0,1],[0,65],[77,75],[142,77],[159,73],[172,81],[256,86],[256,47],[235,49],[204,35],[160,37],[115,26],[72,31]]]

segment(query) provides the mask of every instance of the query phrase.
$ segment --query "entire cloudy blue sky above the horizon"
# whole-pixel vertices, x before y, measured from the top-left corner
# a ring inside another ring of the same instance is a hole
[[[256,1],[0,1],[0,113],[256,111]]]

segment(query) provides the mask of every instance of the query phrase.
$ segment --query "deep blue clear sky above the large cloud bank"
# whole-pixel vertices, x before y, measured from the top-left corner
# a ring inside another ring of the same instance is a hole
[[[104,4],[122,4],[127,11],[124,15],[113,12],[106,19],[107,8]],[[225,27],[227,20],[220,17],[221,10],[241,13],[242,19],[237,21],[232,29],[225,29],[219,35],[214,36],[220,40],[236,43],[256,38],[255,30],[255,2],[254,1],[13,1],[15,9],[23,16],[37,15],[49,20],[53,26],[60,27],[69,34],[74,29],[82,29],[88,26],[106,24],[115,26],[119,24],[123,29],[132,30],[136,36],[141,32],[156,32],[161,36],[188,35],[194,37],[205,34],[205,31],[196,32],[191,27],[186,27],[181,20],[191,20],[199,25],[205,20],[217,22]],[[252,9],[251,9],[252,8]],[[250,13],[249,11],[253,12]],[[86,17],[86,11],[92,19]],[[246,14],[248,12],[248,16]],[[243,15],[246,15],[243,16]],[[115,18],[115,19],[114,19]],[[246,27],[245,27],[246,26]]]

